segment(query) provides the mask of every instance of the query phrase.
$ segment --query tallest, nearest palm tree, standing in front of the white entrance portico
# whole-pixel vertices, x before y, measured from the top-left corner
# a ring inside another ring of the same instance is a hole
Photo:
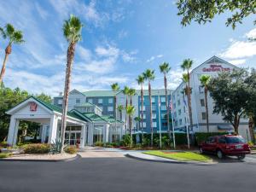
[[[83,24],[78,17],[70,16],[69,20],[65,20],[63,25],[63,34],[67,39],[67,67],[65,88],[62,104],[62,117],[61,117],[61,153],[64,151],[65,131],[67,125],[67,106],[68,106],[68,94],[70,89],[71,71],[73,66],[73,58],[75,53],[76,44],[81,40],[81,31]]]

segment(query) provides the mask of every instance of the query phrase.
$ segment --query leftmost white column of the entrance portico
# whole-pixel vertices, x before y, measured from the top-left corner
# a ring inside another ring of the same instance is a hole
[[[8,132],[8,139],[7,139],[7,143],[9,145],[13,146],[17,142],[19,124],[20,124],[20,119],[15,119],[12,116],[9,123],[9,132]]]

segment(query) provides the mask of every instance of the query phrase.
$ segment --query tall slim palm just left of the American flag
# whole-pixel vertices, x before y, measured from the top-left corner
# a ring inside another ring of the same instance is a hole
[[[169,102],[168,102],[168,98],[167,98],[167,79],[166,79],[166,74],[170,72],[171,70],[171,67],[169,67],[169,63],[167,62],[164,62],[162,63],[160,66],[160,73],[163,73],[164,74],[164,84],[165,84],[165,92],[166,92],[166,110],[167,110],[167,113],[166,113],[166,118],[167,118],[167,130],[168,130],[168,133],[169,133],[169,137],[171,138],[171,131],[170,131],[170,122],[169,122]]]

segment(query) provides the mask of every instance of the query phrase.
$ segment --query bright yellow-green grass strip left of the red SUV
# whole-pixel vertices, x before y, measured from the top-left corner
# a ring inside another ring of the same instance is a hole
[[[189,161],[189,160],[197,160],[197,161],[207,161],[211,160],[211,158],[202,155],[202,154],[195,154],[193,152],[168,152],[168,151],[147,151],[144,152],[143,154],[151,154],[159,157],[164,157],[167,159],[172,159],[172,160],[184,160],[184,161]]]

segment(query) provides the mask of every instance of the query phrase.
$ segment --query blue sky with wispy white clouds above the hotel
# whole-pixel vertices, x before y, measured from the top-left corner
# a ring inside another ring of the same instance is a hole
[[[168,88],[181,81],[180,64],[194,61],[193,68],[213,55],[239,67],[256,67],[253,16],[232,30],[225,26],[229,14],[211,23],[181,26],[171,0],[9,0],[1,1],[0,26],[11,23],[24,33],[24,44],[14,44],[3,83],[30,93],[57,96],[64,89],[67,40],[64,20],[76,15],[84,24],[82,41],[75,50],[71,89],[110,90],[119,83],[139,88],[136,78],[154,69],[153,89],[163,88],[160,63],[172,67]],[[0,38],[0,63],[7,41]]]

